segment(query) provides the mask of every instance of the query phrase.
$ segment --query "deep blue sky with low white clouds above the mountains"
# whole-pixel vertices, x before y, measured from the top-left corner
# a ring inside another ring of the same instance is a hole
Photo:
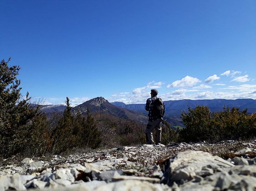
[[[255,0],[2,0],[0,59],[22,94],[77,105],[102,96],[256,99]]]

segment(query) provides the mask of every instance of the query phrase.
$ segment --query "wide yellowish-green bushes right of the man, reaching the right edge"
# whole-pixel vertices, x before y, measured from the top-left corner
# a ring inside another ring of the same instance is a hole
[[[180,130],[180,139],[190,141],[221,141],[227,139],[252,138],[256,135],[255,114],[248,116],[247,110],[224,107],[212,113],[208,107],[188,108],[182,113],[186,128]]]

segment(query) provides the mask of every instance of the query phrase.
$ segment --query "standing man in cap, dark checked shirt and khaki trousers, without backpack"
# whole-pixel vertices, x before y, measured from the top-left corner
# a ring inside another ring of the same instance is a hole
[[[152,131],[156,130],[156,144],[161,144],[161,133],[162,133],[162,117],[157,117],[154,113],[153,106],[154,102],[157,99],[158,91],[157,89],[151,89],[151,97],[147,99],[145,110],[149,112],[149,122],[147,124],[145,133],[146,133],[146,140],[147,144],[155,144],[153,139]],[[164,107],[165,109],[165,107]]]

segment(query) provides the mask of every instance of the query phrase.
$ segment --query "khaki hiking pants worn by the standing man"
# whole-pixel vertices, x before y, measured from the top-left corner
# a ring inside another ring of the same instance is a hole
[[[155,121],[149,121],[145,130],[147,144],[154,144],[153,130],[156,130],[156,144],[161,142],[161,132],[162,132],[162,119],[157,119]]]

